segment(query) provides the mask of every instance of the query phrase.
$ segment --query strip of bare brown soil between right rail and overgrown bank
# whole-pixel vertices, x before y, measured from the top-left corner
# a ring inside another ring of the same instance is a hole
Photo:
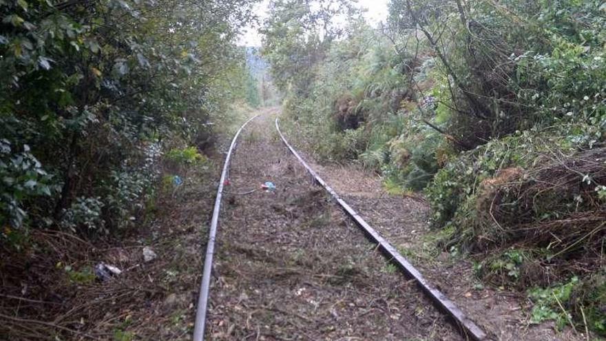
[[[532,304],[525,293],[479,286],[473,273],[474,256],[437,249],[431,239],[430,207],[421,194],[386,193],[382,179],[357,165],[315,163],[304,141],[292,131],[286,138],[311,167],[379,234],[397,247],[426,279],[454,301],[494,340],[587,340],[570,328],[556,331],[552,322],[530,324]],[[292,141],[290,141],[292,140]],[[297,143],[298,142],[298,143]],[[475,256],[481,258],[481,256]]]

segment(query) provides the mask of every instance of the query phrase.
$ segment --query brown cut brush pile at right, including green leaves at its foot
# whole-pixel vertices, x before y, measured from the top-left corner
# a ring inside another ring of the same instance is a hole
[[[553,319],[604,335],[606,148],[544,154],[534,165],[503,169],[479,186],[470,249],[502,252],[477,273],[530,288],[531,322]]]

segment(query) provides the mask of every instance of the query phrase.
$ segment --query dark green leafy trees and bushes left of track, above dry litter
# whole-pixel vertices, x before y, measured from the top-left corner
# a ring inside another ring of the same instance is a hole
[[[0,243],[10,247],[32,228],[132,226],[163,152],[198,162],[234,101],[259,105],[234,43],[251,1],[19,0],[0,12]]]

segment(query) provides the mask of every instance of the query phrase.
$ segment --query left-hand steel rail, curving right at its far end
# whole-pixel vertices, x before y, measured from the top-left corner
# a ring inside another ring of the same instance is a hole
[[[229,169],[231,152],[233,152],[234,147],[236,147],[236,140],[238,140],[240,132],[242,132],[244,127],[249,124],[250,121],[253,121],[253,119],[257,118],[258,116],[259,115],[253,116],[248,121],[244,122],[242,127],[238,129],[238,132],[236,132],[236,135],[234,135],[233,139],[231,140],[231,145],[229,145],[229,150],[227,151],[227,156],[225,156],[225,162],[223,163],[223,171],[221,172],[219,187],[217,189],[217,197],[215,198],[213,218],[211,219],[209,238],[206,246],[206,256],[204,258],[204,270],[202,271],[202,282],[200,283],[200,296],[198,297],[198,310],[196,311],[196,325],[194,327],[194,341],[204,340],[204,329],[206,324],[206,313],[208,308],[209,289],[211,283],[211,268],[213,267],[213,254],[215,252],[217,224],[219,222],[219,212],[221,209],[221,196],[223,194],[223,184],[225,183],[225,178],[227,177]]]

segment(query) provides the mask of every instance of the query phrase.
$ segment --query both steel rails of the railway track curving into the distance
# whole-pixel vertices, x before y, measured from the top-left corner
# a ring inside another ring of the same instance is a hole
[[[240,136],[240,133],[242,132],[242,130],[244,130],[244,127],[257,117],[258,116],[251,118],[249,121],[244,123],[244,125],[242,125],[242,127],[240,127],[240,130],[238,130],[238,132],[236,133],[236,135],[234,136],[234,138],[231,142],[229,151],[227,152],[226,160],[224,162],[224,167],[222,169],[222,174],[221,174],[220,182],[218,185],[218,193],[217,193],[217,197],[216,197],[215,207],[213,209],[213,216],[212,216],[211,225],[209,228],[209,240],[208,240],[207,251],[206,251],[206,255],[205,255],[205,267],[204,267],[204,271],[203,271],[203,275],[202,275],[202,282],[200,285],[200,297],[198,300],[198,310],[196,313],[194,341],[205,340],[205,327],[206,327],[207,318],[208,318],[207,312],[208,312],[208,305],[209,305],[209,289],[211,287],[211,269],[213,269],[213,254],[214,254],[215,242],[217,239],[216,234],[217,234],[218,220],[219,220],[219,214],[220,214],[221,198],[223,195],[223,188],[224,188],[225,180],[227,180],[229,178],[228,174],[229,174],[229,167],[230,167],[230,163],[231,163],[231,156],[236,148],[236,145],[237,145],[236,141],[238,140],[238,136]],[[267,125],[265,128],[267,129]],[[424,293],[424,295],[427,298],[429,298],[430,302],[435,307],[437,307],[437,309],[439,309],[439,311],[441,311],[442,313],[445,313],[446,316],[448,316],[449,321],[452,323],[452,325],[455,327],[455,329],[457,329],[457,331],[459,331],[459,333],[463,337],[463,340],[486,340],[487,339],[486,334],[476,324],[474,324],[474,322],[472,320],[470,320],[460,309],[457,308],[457,306],[452,301],[448,300],[448,298],[446,298],[446,296],[444,296],[439,290],[437,290],[435,287],[430,285],[430,283],[428,283],[428,281],[425,280],[425,278],[421,275],[421,273],[419,271],[417,271],[417,269],[415,269],[415,267],[413,267],[410,264],[410,262],[408,262],[406,260],[406,258],[404,258],[403,256],[401,256],[401,254],[399,254],[399,252],[397,251],[397,249],[395,249],[395,247],[390,245],[390,243],[387,240],[385,240],[382,236],[380,236],[377,233],[377,231],[375,231],[375,229],[373,229],[373,227],[370,227],[370,225],[368,225],[368,223],[366,223],[366,221],[364,221],[364,219],[361,216],[359,216],[359,214],[357,214],[357,212],[352,207],[350,207],[342,198],[340,198],[339,195],[324,180],[322,180],[322,178],[320,178],[320,176],[318,176],[318,174],[304,161],[304,159],[300,156],[300,154],[298,154],[296,152],[296,150],[288,143],[288,141],[284,137],[284,134],[282,134],[282,132],[280,131],[278,118],[275,119],[275,130],[278,132],[278,136],[281,139],[282,143],[284,143],[284,145],[286,145],[286,148],[289,150],[289,152],[292,154],[292,156],[294,156],[294,158],[296,159],[296,161],[293,161],[293,163],[294,162],[300,163],[300,165],[298,165],[297,167],[303,167],[304,172],[308,172],[311,175],[311,177],[313,179],[313,183],[322,186],[326,190],[326,192],[328,192],[331,200],[334,203],[336,203],[337,205],[339,205],[342,212],[344,212],[344,214],[346,214],[347,218],[344,218],[344,219],[353,221],[357,227],[362,229],[362,231],[364,231],[364,234],[366,235],[366,238],[368,238],[368,240],[373,242],[376,245],[377,249],[382,251],[382,254],[387,259],[387,261],[390,262],[390,264],[395,265],[397,267],[397,269],[402,271],[402,273],[405,274],[406,278],[410,279],[408,282],[410,282],[410,281],[415,282],[416,285],[421,289],[420,292]],[[252,134],[253,133],[251,132],[251,136],[253,136]],[[250,139],[253,140],[253,138],[250,138]],[[267,149],[267,147],[263,147],[263,148]],[[263,151],[264,150],[263,148],[260,150]],[[273,148],[275,149],[276,147],[273,146]],[[246,158],[246,157],[250,156],[248,154],[249,153],[243,154],[242,158]],[[251,153],[251,154],[253,154],[253,153]],[[274,152],[273,154],[276,154],[276,153]],[[253,158],[254,158],[254,155],[253,155]],[[276,158],[275,163],[278,163],[278,164],[284,163],[285,159],[286,159],[286,155],[281,156],[280,158]],[[242,167],[242,166],[240,166],[240,167]],[[288,169],[293,169],[293,171],[292,171],[293,174],[297,174],[297,171],[294,169],[295,166],[293,166],[292,164],[289,163],[286,167]],[[249,168],[244,167],[244,170],[242,172],[250,172],[250,171],[251,171],[250,167]],[[284,172],[282,172],[280,174],[284,174]],[[300,176],[300,174],[298,174],[297,176]],[[284,187],[287,187],[287,185],[284,184]],[[293,185],[292,187],[294,188],[295,185]],[[293,189],[289,189],[289,190],[291,190],[291,192],[293,192]],[[285,189],[285,191],[286,191],[286,189]],[[247,192],[247,193],[251,193],[251,192]],[[267,200],[262,197],[259,197],[259,198],[260,198],[260,200]],[[247,199],[247,200],[249,200],[249,199]],[[314,200],[322,200],[322,197],[315,197]],[[250,203],[250,202],[251,202],[250,200],[247,201],[247,203]],[[280,207],[280,209],[284,210],[282,207]],[[286,211],[289,211],[288,207],[286,207]],[[292,215],[292,212],[291,212],[291,215]],[[298,221],[298,220],[295,220],[295,221]],[[246,223],[247,220],[244,220],[244,222]],[[272,227],[272,229],[274,229],[274,231],[275,231],[275,227]],[[324,233],[331,234],[334,232],[325,231]],[[235,234],[234,236],[236,236],[236,238],[238,238],[238,236],[242,235],[242,234],[243,233],[240,232],[238,234]],[[256,234],[256,235],[258,235],[258,234]],[[272,238],[272,236],[269,236],[267,238]],[[291,236],[289,238],[293,238],[293,237]],[[315,237],[312,236],[310,238],[315,238]],[[244,240],[244,241],[248,241],[248,240]],[[352,242],[352,243],[355,244],[355,242]],[[275,245],[277,245],[277,244],[270,245],[270,247],[274,247]],[[338,248],[339,245],[337,244],[337,246],[331,246],[331,247]],[[251,249],[247,249],[247,253],[248,253],[247,257],[249,257],[250,256],[249,254],[254,253],[254,251]],[[284,257],[282,257],[282,258],[284,258]],[[226,257],[226,259],[228,259],[228,258]],[[241,262],[239,264],[246,264],[246,263]],[[371,262],[369,264],[371,266],[374,265],[376,267],[377,263]],[[336,267],[337,265],[333,265],[333,266]],[[294,271],[294,270],[291,269],[289,271]],[[296,271],[301,272],[301,270],[296,270]],[[317,274],[314,273],[313,276],[317,276]],[[322,275],[322,276],[324,276],[324,275]],[[375,277],[375,276],[377,276],[377,275],[373,275],[373,277]],[[297,280],[297,282],[299,282],[299,281]],[[396,280],[396,282],[397,282],[397,280]],[[289,286],[292,287],[292,285],[293,285],[293,282],[289,282]],[[297,290],[297,293],[296,293],[297,296],[300,295],[299,290],[302,290],[302,289]],[[347,289],[347,290],[349,290],[349,289]],[[344,295],[344,294],[341,294],[341,295]],[[248,296],[243,295],[242,297],[247,298]],[[343,296],[339,296],[339,297],[343,297]],[[328,299],[328,300],[330,300],[330,299]],[[239,299],[238,303],[240,301],[241,300]],[[313,300],[312,300],[312,302],[313,302]],[[372,301],[372,302],[374,302],[374,301]],[[421,302],[421,301],[411,301],[408,304],[411,304],[411,305],[425,304],[424,303],[425,301],[422,301],[421,303],[419,303],[419,302]],[[321,303],[317,303],[317,304],[320,305]],[[349,303],[349,304],[351,305],[351,303]],[[406,304],[406,302],[397,302],[397,304]],[[387,305],[388,305],[387,310],[391,312],[392,309],[389,308],[390,304],[387,304]],[[268,309],[273,309],[274,311],[281,311],[282,313],[284,313],[284,311],[280,310],[280,307],[276,308],[276,307],[272,306]],[[317,307],[316,307],[316,309],[317,309]],[[253,312],[254,312],[254,310],[253,310]],[[333,314],[335,319],[337,319],[337,316],[338,316],[337,313],[335,313],[335,312],[333,312],[333,310],[331,310],[331,314]],[[318,321],[318,320],[312,320],[309,317],[302,316],[300,313],[291,313],[291,315],[294,315],[296,319],[303,320],[304,322],[308,322],[308,323],[313,322],[313,323],[319,324],[321,326],[324,325],[324,322]],[[393,316],[393,314],[391,316]],[[249,318],[250,317],[251,316],[249,316]],[[247,318],[246,322],[245,322],[247,324],[247,326],[249,324],[249,318]],[[377,318],[381,318],[381,316],[377,316]],[[218,324],[221,324],[221,323],[223,323],[223,322],[218,322]],[[346,324],[346,325],[350,325],[350,324]],[[267,327],[267,325],[265,327]],[[258,328],[258,330],[256,333],[256,338],[259,340],[261,332],[260,332],[259,327],[257,327],[257,328]],[[228,334],[229,333],[233,333],[233,327],[231,327],[231,331],[228,331]],[[217,334],[217,335],[219,335],[219,334]],[[374,334],[368,334],[368,335],[374,335]],[[389,333],[388,335],[391,335],[391,333]],[[369,339],[370,339],[370,337],[369,337]],[[397,338],[395,338],[395,339],[397,339]]]

